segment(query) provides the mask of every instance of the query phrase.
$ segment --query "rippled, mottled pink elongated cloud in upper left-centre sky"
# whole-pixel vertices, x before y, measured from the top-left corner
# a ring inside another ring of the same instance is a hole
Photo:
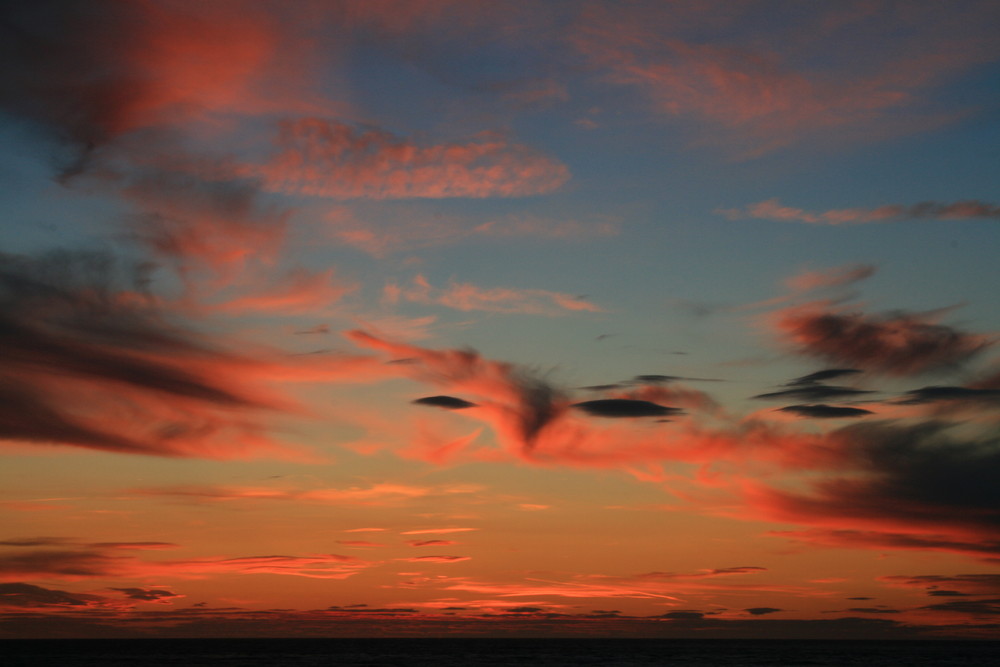
[[[491,133],[420,145],[373,127],[300,118],[279,126],[278,153],[233,165],[277,192],[333,199],[523,197],[569,179],[562,163]]]

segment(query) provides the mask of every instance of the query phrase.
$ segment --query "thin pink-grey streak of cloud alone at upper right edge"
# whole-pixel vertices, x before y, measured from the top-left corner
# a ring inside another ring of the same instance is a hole
[[[1000,205],[981,201],[957,201],[951,203],[920,202],[919,204],[887,204],[875,208],[847,208],[830,211],[810,212],[781,204],[777,199],[768,199],[748,204],[742,209],[719,209],[716,211],[730,220],[757,218],[784,222],[805,222],[813,225],[854,225],[869,222],[891,222],[894,220],[1000,220]]]

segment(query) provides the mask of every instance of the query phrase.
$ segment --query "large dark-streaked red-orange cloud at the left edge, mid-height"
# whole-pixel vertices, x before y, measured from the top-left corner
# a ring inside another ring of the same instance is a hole
[[[159,456],[295,456],[262,415],[295,374],[223,351],[171,317],[140,266],[102,253],[5,256],[0,439]],[[232,349],[232,342],[227,346]],[[301,454],[298,454],[301,456]]]

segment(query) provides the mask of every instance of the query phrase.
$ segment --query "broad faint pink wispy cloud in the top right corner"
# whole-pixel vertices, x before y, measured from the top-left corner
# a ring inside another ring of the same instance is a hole
[[[664,116],[693,120],[702,143],[741,158],[953,120],[954,107],[922,105],[925,92],[945,74],[1000,55],[983,23],[995,7],[983,3],[958,11],[920,3],[913,13],[921,20],[906,9],[846,4],[808,13],[767,2],[726,11],[712,3],[594,4],[573,39],[607,81],[641,91]],[[953,48],[956,35],[967,48]]]

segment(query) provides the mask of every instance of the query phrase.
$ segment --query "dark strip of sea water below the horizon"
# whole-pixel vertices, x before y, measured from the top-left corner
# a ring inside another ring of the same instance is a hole
[[[5,667],[1000,665],[1000,642],[683,639],[58,639],[0,642]]]

